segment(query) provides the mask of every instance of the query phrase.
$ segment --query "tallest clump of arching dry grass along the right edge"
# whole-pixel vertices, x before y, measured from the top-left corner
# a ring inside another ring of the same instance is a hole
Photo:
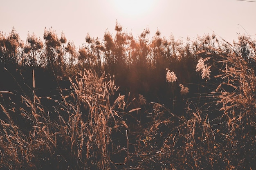
[[[211,59],[211,68],[216,70],[211,77],[220,81],[209,95],[215,99],[216,108],[220,108],[222,115],[211,124],[222,143],[225,141],[225,152],[222,151],[221,155],[222,160],[226,160],[227,169],[252,169],[252,162],[255,162],[255,47],[252,39],[240,36],[238,43],[226,43],[225,48],[209,46],[211,52],[205,51],[204,60]],[[223,144],[218,145],[224,147]]]

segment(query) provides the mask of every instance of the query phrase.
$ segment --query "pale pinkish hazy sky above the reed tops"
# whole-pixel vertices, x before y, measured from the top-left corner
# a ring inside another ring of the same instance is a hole
[[[115,35],[117,21],[134,37],[148,28],[150,37],[157,29],[184,41],[214,32],[232,42],[238,34],[256,39],[255,9],[256,2],[241,0],[2,0],[0,31],[14,28],[26,41],[28,33],[43,39],[52,27],[78,47],[87,33],[101,40],[106,31]]]

